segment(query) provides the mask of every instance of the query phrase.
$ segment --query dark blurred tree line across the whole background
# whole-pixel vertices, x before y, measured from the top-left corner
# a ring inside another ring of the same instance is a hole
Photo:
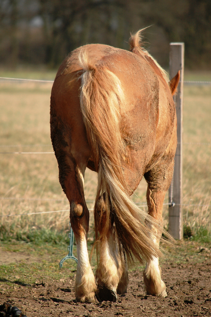
[[[57,67],[73,49],[98,42],[128,49],[129,32],[168,65],[169,42],[185,42],[185,65],[211,68],[210,0],[0,0],[0,62]]]

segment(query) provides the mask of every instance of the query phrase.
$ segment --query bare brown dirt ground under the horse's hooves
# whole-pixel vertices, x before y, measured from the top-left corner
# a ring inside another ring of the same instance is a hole
[[[200,251],[199,251],[200,252]],[[2,253],[10,258],[10,254]],[[15,261],[18,261],[16,254]],[[23,261],[23,254],[21,255]],[[30,261],[32,259],[27,258]],[[8,260],[9,261],[9,260]],[[75,274],[75,273],[74,273]],[[61,275],[62,276],[62,275]],[[34,284],[13,281],[11,287],[0,277],[0,304],[9,302],[23,311],[27,317],[47,316],[211,316],[211,258],[183,264],[166,261],[162,264],[162,276],[166,283],[166,298],[145,295],[142,270],[129,273],[128,293],[118,295],[116,303],[102,302],[82,304],[75,301],[74,278],[59,281],[40,280]],[[4,283],[2,283],[4,282]]]

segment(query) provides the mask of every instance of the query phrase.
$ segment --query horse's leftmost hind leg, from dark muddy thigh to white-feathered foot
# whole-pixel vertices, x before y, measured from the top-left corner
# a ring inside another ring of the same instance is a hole
[[[53,121],[53,120],[51,120]],[[82,128],[81,128],[82,130]],[[76,133],[78,136],[80,131]],[[77,245],[76,300],[95,301],[96,283],[89,263],[87,234],[89,210],[84,197],[84,172],[87,165],[86,142],[80,146],[71,136],[69,128],[58,118],[51,123],[51,138],[59,166],[59,181],[70,204],[70,223]],[[82,149],[82,150],[81,150]],[[85,154],[84,154],[85,153]]]

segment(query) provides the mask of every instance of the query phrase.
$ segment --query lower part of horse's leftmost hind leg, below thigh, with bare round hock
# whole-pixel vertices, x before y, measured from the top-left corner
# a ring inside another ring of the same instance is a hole
[[[95,301],[96,283],[89,263],[87,235],[89,231],[89,210],[83,191],[85,165],[79,167],[76,162],[69,162],[71,170],[65,179],[65,193],[70,203],[70,223],[77,245],[76,300]]]

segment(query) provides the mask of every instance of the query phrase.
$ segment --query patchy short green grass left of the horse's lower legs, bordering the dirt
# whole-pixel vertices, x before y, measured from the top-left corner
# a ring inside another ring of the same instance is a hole
[[[56,233],[54,233],[54,238],[57,238],[56,242],[54,239],[46,242],[46,234],[48,234],[48,231],[44,235],[41,233],[41,238],[37,238],[34,235],[31,239],[34,240],[32,242],[26,242],[24,238],[23,240],[13,239],[0,242],[1,255],[6,259],[6,264],[0,265],[1,284],[6,283],[14,286],[25,283],[33,286],[37,281],[38,283],[43,281],[50,284],[52,281],[59,281],[61,278],[65,280],[74,279],[77,267],[74,260],[67,259],[63,262],[63,267],[59,268],[59,262],[69,253],[68,232],[63,235],[63,241],[60,242]],[[91,249],[92,243],[88,243],[89,254]],[[75,244],[73,246],[73,254],[77,257]],[[91,259],[91,266],[95,273],[95,252]]]

